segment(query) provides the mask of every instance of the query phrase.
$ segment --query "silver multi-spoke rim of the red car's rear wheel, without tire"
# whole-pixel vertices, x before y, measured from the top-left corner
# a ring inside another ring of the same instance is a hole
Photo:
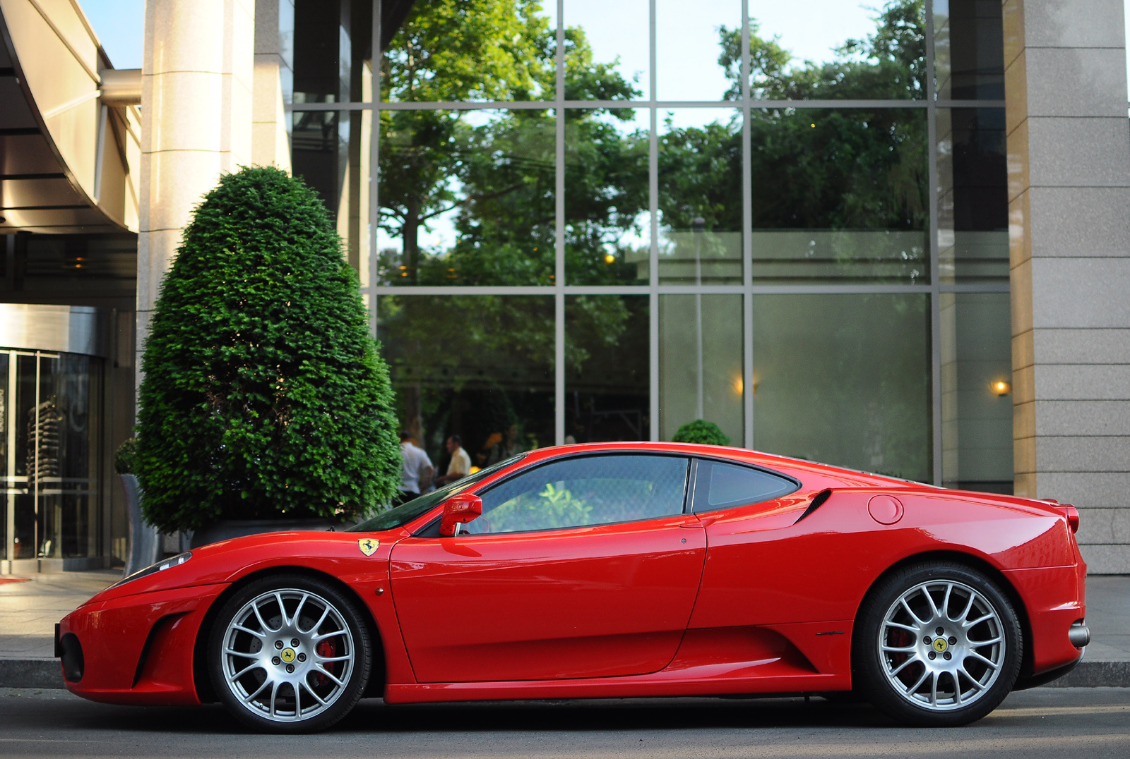
[[[1005,661],[1000,614],[964,583],[920,583],[890,604],[879,629],[879,661],[894,690],[932,712],[972,705]]]

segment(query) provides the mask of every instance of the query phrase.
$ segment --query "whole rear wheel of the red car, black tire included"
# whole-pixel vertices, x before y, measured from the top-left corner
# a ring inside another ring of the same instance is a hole
[[[1012,603],[983,573],[951,561],[909,565],[881,578],[860,608],[853,684],[899,722],[967,725],[1008,696],[1023,646]]]

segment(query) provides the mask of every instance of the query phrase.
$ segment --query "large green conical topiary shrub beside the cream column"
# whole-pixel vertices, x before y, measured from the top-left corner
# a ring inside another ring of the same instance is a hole
[[[164,532],[349,518],[400,481],[388,367],[321,200],[224,176],[184,230],[146,341],[137,474]]]

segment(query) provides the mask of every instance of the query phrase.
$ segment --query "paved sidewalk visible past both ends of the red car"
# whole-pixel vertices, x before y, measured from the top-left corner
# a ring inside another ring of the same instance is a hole
[[[21,687],[16,681],[25,677],[27,687],[62,687],[53,657],[55,622],[121,577],[121,570],[104,569],[0,584],[0,687]],[[1087,626],[1084,664],[1054,684],[1130,684],[1130,575],[1087,578]]]

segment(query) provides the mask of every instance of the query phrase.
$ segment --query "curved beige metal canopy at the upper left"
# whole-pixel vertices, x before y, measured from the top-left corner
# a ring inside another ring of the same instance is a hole
[[[78,7],[50,9],[0,0],[0,234],[137,232],[138,110],[102,97],[113,69]]]

